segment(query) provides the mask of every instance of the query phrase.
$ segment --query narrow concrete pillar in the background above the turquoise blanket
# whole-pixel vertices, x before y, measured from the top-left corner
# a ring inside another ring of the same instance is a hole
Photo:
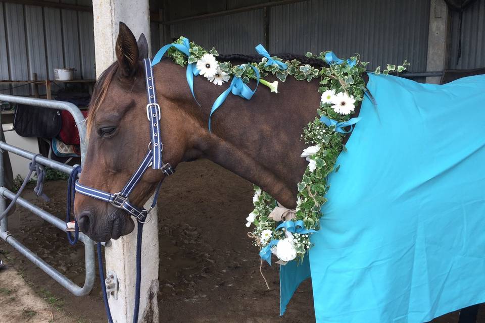
[[[426,71],[438,72],[447,66],[450,14],[444,0],[431,0],[430,9]],[[426,77],[426,83],[439,84],[440,79],[439,76]]]

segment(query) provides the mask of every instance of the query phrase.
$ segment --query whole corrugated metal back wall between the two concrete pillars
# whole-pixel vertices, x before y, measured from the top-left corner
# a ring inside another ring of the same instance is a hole
[[[243,6],[241,1],[228,3],[231,8]],[[180,10],[183,6],[178,12],[193,11],[190,6]],[[333,50],[343,58],[358,52],[371,62],[370,68],[407,59],[412,63],[409,71],[421,72],[426,70],[429,9],[430,2],[423,0],[312,0],[270,7],[267,49],[299,54]],[[222,53],[255,53],[254,47],[265,41],[264,11],[174,24],[170,34]]]

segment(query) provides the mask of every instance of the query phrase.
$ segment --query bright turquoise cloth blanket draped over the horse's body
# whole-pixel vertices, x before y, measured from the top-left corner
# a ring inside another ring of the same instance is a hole
[[[411,322],[485,302],[485,75],[369,75],[306,261],[281,266],[281,314],[311,276],[317,322]],[[310,275],[311,274],[311,275]]]

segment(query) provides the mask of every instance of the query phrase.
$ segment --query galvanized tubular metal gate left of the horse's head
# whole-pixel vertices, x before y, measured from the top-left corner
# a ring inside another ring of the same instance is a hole
[[[81,141],[81,164],[82,164],[86,153],[86,142],[85,142],[86,126],[83,122],[84,116],[82,115],[81,111],[78,109],[76,105],[69,102],[28,98],[28,97],[14,96],[14,95],[6,95],[6,94],[0,94],[0,101],[34,105],[38,107],[45,107],[48,109],[68,111],[74,117],[74,121],[76,122],[77,129],[79,131],[79,137],[81,139],[80,141]],[[1,121],[1,118],[0,118],[0,121]],[[25,157],[27,159],[32,159],[32,157],[34,156],[33,152],[10,145],[3,141],[0,141],[0,150],[7,150],[19,156]],[[42,156],[38,156],[35,160],[37,161],[37,163],[43,166],[53,168],[55,170],[61,171],[66,174],[71,174],[72,170],[74,169],[74,167],[72,166],[65,165],[65,164],[59,163],[58,161],[52,160],[50,158],[42,157]],[[5,198],[12,199],[15,196],[15,193],[11,192],[5,187],[4,176],[5,176],[5,168],[4,168],[3,154],[0,153],[0,213],[2,213],[6,208]],[[36,214],[41,219],[54,225],[56,228],[64,232],[67,231],[66,223],[61,219],[57,218],[56,216],[54,216],[54,214],[51,214],[43,210],[42,208],[30,203],[29,201],[21,197],[17,200],[17,204],[28,209],[29,211]],[[37,265],[42,271],[44,271],[47,275],[51,276],[55,281],[57,281],[59,284],[64,286],[72,294],[76,296],[84,296],[91,291],[94,285],[94,278],[95,278],[94,242],[84,234],[79,233],[79,241],[84,243],[84,257],[85,257],[85,278],[84,278],[84,285],[82,287],[76,285],[66,276],[59,273],[53,266],[51,266],[50,264],[42,260],[34,252],[32,252],[30,249],[28,249],[23,244],[21,244],[17,239],[15,239],[13,235],[8,231],[7,217],[5,217],[0,221],[0,238],[4,239],[6,242],[12,245],[15,249],[17,249],[20,253],[26,256],[30,261],[32,261],[35,265]]]

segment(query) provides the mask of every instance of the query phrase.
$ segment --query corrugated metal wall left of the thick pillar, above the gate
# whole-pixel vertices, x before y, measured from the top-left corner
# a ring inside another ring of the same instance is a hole
[[[91,5],[89,0],[61,2]],[[29,80],[31,73],[53,79],[53,68],[64,67],[75,68],[75,78],[95,78],[92,13],[0,2],[0,43],[5,44],[0,46],[2,80]],[[2,85],[4,93],[8,87]],[[29,87],[11,93],[29,95]]]

